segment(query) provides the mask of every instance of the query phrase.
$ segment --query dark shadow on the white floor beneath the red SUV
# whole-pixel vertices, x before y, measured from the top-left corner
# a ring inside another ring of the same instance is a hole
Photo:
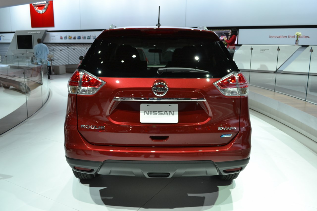
[[[90,195],[96,204],[119,209],[200,207],[199,210],[204,210],[201,207],[208,209],[216,201],[232,204],[230,189],[235,186],[234,182],[222,181],[216,176],[163,179],[99,176],[80,182],[89,185]]]

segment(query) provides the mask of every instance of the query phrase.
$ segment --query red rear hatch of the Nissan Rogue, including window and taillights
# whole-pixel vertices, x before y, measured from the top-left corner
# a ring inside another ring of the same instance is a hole
[[[89,143],[108,146],[229,143],[239,132],[248,84],[226,48],[211,32],[146,30],[109,30],[89,49],[69,81],[78,131]]]

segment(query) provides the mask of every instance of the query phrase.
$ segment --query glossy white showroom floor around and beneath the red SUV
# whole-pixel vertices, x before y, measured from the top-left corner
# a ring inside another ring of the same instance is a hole
[[[70,76],[52,75],[46,105],[1,135],[1,211],[317,211],[317,155],[297,141],[312,140],[254,111],[250,163],[233,182],[216,177],[76,179],[63,148]]]

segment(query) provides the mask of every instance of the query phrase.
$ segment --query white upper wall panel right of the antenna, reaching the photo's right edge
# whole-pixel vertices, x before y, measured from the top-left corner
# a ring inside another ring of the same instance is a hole
[[[187,26],[317,24],[316,0],[187,0],[186,7]]]

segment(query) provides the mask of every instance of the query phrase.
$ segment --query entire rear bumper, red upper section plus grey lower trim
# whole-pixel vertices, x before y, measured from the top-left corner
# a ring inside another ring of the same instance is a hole
[[[224,175],[235,173],[226,173],[224,169],[243,170],[250,151],[251,127],[241,127],[237,136],[224,146],[131,147],[93,145],[81,136],[76,126],[65,125],[67,162],[72,169],[93,169],[91,172],[74,169],[89,174],[148,177],[151,171],[162,172],[167,168],[164,171],[168,170],[170,176]]]

